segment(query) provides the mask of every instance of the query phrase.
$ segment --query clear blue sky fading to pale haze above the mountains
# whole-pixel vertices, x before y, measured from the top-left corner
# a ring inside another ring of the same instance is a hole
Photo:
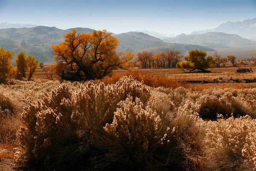
[[[0,0],[0,23],[190,34],[256,17],[256,0]]]

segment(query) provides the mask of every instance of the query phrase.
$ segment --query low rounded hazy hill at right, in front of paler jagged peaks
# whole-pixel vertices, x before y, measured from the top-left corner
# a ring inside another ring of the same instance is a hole
[[[207,46],[210,48],[225,48],[248,46],[255,44],[253,41],[241,38],[239,35],[222,32],[207,32],[199,35],[177,35],[175,38],[166,38],[163,41],[170,43],[187,43]]]

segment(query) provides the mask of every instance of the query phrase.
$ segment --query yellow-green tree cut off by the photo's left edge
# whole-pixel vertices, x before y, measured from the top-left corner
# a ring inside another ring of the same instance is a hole
[[[0,83],[5,82],[14,73],[15,69],[12,66],[13,56],[14,52],[0,47]]]

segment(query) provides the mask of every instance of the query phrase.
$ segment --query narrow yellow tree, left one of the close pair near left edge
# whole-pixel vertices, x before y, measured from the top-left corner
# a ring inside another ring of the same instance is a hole
[[[16,58],[17,78],[26,77],[27,61],[25,52],[20,52]]]

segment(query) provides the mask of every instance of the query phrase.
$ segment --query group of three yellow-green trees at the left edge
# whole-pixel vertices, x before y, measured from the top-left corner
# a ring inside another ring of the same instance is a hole
[[[8,78],[23,78],[26,77],[31,79],[34,72],[38,67],[38,60],[34,56],[26,56],[25,52],[20,52],[16,58],[17,69],[12,65],[12,59],[15,53],[5,50],[0,47],[0,83],[4,83]]]

